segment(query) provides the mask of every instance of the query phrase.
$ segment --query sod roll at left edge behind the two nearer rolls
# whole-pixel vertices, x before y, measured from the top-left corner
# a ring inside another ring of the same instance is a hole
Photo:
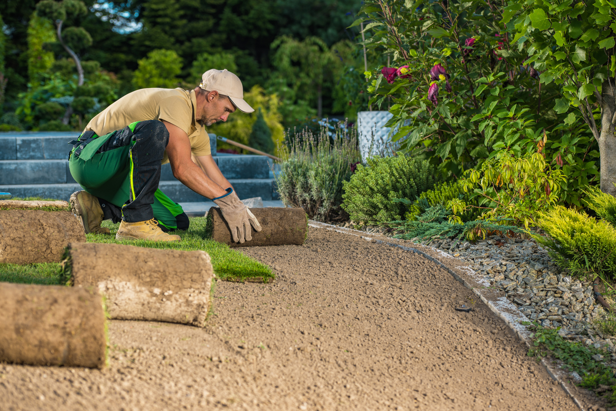
[[[0,263],[60,262],[68,243],[86,241],[68,211],[0,210]]]

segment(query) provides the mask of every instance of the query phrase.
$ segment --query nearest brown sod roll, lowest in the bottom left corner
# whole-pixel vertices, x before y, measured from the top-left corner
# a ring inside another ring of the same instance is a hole
[[[0,283],[0,362],[102,368],[105,312],[94,288]]]

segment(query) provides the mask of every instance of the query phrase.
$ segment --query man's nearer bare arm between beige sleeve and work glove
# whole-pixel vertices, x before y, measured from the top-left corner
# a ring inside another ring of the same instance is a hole
[[[206,176],[203,170],[192,162],[190,159],[190,140],[188,140],[188,135],[184,130],[165,120],[162,120],[162,122],[169,131],[169,144],[167,144],[166,151],[173,176],[195,193],[209,199],[227,194],[224,188]]]

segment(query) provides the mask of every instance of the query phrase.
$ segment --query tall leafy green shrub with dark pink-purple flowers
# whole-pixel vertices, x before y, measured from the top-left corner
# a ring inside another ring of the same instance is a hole
[[[519,157],[541,143],[546,166],[568,178],[560,200],[582,207],[580,188],[598,180],[598,144],[580,110],[554,112],[560,88],[525,64],[532,46],[512,43],[498,3],[366,1],[360,16],[373,33],[367,48],[392,57],[366,76],[371,104],[391,104],[402,152],[458,178],[500,150]]]

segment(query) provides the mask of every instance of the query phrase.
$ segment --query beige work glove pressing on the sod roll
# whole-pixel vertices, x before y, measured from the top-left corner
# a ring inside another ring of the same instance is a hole
[[[240,201],[233,189],[227,188],[227,191],[229,191],[229,194],[217,197],[212,201],[221,207],[222,217],[224,217],[227,224],[229,224],[233,241],[240,244],[245,241],[250,241],[253,239],[250,226],[252,225],[254,231],[258,233],[261,231],[261,225],[248,207]]]

